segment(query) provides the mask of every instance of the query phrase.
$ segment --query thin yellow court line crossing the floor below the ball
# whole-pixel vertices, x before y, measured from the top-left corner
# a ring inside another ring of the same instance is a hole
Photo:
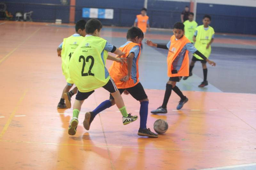
[[[51,145],[65,145],[65,146],[88,146],[88,147],[100,147],[106,148],[106,145],[90,145],[90,144],[60,144],[60,143],[47,143],[47,142],[29,142],[29,141],[12,141],[12,140],[0,140],[0,142],[11,143],[26,143],[26,144],[51,144]],[[226,153],[255,153],[246,151],[227,151],[227,150],[196,150],[196,149],[176,149],[176,148],[148,148],[148,147],[132,147],[132,146],[107,146],[108,148],[126,148],[126,149],[146,149],[146,150],[167,150],[167,151],[186,151],[186,152],[226,152]]]

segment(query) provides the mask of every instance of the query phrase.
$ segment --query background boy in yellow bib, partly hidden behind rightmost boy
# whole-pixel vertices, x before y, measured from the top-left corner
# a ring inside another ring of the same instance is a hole
[[[184,27],[185,36],[188,38],[188,40],[191,43],[194,43],[193,36],[195,34],[195,29],[197,27],[197,23],[193,19],[194,19],[194,13],[189,12],[188,20],[183,22],[183,24],[185,25],[185,27]]]

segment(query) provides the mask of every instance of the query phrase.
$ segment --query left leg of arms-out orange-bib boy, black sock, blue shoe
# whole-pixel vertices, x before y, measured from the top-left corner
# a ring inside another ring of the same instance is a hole
[[[162,106],[158,107],[156,110],[152,110],[151,113],[159,114],[159,113],[167,113],[167,103],[172,93],[172,87],[175,87],[176,82],[180,81],[181,77],[171,77],[166,84],[166,89],[164,93],[164,101]]]

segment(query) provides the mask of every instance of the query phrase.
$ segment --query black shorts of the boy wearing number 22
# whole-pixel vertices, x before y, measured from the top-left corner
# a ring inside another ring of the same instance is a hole
[[[114,81],[112,80],[112,78],[109,79],[108,83],[104,86],[102,86],[104,89],[106,89],[108,92],[110,93],[113,93],[113,92],[116,92],[118,91],[117,87],[116,87],[116,84],[114,83]],[[87,99],[92,93],[94,92],[91,91],[91,92],[79,92],[79,90],[77,91],[77,94],[76,94],[76,100],[85,100]]]

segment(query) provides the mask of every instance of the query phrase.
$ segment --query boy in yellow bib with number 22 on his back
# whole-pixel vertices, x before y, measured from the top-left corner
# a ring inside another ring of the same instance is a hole
[[[137,120],[138,116],[127,114],[124,101],[118,91],[114,81],[109,76],[105,67],[106,59],[123,63],[123,58],[108,56],[108,51],[116,55],[124,55],[115,46],[100,38],[102,24],[97,19],[90,19],[85,25],[86,36],[74,51],[70,63],[70,78],[76,84],[78,92],[73,107],[73,118],[70,122],[68,134],[75,135],[78,125],[78,115],[81,106],[95,89],[103,87],[108,90],[116,101],[116,106],[123,115],[123,124],[128,124]],[[86,115],[85,115],[86,119]]]

